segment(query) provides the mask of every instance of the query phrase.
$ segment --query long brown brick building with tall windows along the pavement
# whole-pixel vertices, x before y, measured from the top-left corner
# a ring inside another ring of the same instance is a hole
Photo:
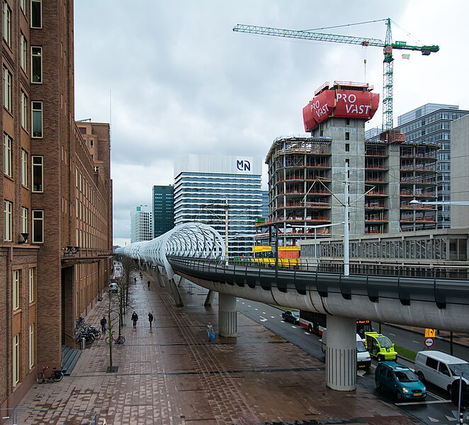
[[[2,2],[0,407],[57,366],[111,273],[110,128],[74,122],[73,2]]]

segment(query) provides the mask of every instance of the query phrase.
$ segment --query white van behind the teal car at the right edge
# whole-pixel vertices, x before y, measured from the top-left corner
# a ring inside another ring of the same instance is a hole
[[[469,376],[469,363],[441,351],[419,351],[415,358],[415,373],[422,382],[431,382],[451,393],[451,385],[461,371]],[[469,384],[469,380],[463,378]]]

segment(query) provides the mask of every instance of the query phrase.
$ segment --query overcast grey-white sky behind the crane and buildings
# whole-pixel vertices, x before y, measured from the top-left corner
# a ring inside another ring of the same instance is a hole
[[[393,40],[441,48],[409,60],[395,50],[394,118],[425,103],[469,109],[465,0],[75,0],[74,8],[75,115],[111,122],[121,245],[130,210],[151,205],[152,186],[174,183],[179,154],[265,159],[275,137],[304,134],[303,106],[324,81],[366,81],[382,93],[379,47],[235,33],[237,23],[307,30],[389,17]],[[318,32],[384,40],[385,30],[375,22]],[[380,108],[366,128],[381,121]]]

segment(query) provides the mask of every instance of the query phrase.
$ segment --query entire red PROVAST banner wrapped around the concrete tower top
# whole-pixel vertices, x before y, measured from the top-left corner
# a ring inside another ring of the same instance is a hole
[[[324,90],[303,108],[305,131],[314,130],[330,116],[371,120],[378,109],[380,95],[369,91]]]

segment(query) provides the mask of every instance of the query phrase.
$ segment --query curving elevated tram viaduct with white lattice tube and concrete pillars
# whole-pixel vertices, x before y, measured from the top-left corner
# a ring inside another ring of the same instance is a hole
[[[468,331],[469,280],[380,276],[343,276],[315,263],[294,270],[228,262],[225,243],[208,225],[188,223],[148,242],[137,242],[117,253],[154,266],[160,284],[169,285],[182,305],[176,282],[186,278],[208,288],[206,303],[219,294],[218,331],[237,333],[236,298],[327,314],[327,385],[334,390],[356,388],[356,318],[450,331]],[[329,265],[330,266],[330,265]]]

